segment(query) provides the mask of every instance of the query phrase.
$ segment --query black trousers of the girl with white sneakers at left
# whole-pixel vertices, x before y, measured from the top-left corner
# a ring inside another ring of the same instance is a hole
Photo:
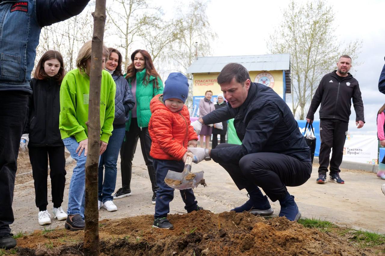
[[[45,211],[48,205],[47,178],[48,158],[51,178],[52,203],[59,208],[63,203],[65,186],[64,146],[28,147],[29,160],[32,165],[33,183],[35,185],[35,203],[39,211]]]

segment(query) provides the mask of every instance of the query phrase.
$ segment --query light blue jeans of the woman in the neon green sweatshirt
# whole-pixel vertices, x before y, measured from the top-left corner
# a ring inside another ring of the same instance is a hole
[[[76,166],[72,172],[70,189],[68,192],[68,208],[67,214],[80,214],[84,219],[85,205],[85,161],[84,150],[80,156],[76,153],[79,143],[74,137],[63,139],[64,146],[70,151],[71,157],[75,159]]]

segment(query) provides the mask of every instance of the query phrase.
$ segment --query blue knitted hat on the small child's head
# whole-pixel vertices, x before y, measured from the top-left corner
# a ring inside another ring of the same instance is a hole
[[[164,83],[163,100],[177,98],[186,102],[189,95],[189,82],[182,73],[171,73]]]

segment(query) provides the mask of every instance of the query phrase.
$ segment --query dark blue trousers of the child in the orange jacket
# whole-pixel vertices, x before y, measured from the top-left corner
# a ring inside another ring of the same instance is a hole
[[[183,161],[174,160],[159,160],[154,158],[154,167],[156,170],[156,185],[159,189],[156,191],[156,204],[154,218],[167,217],[167,213],[170,212],[170,202],[174,199],[174,189],[169,187],[164,178],[166,178],[168,170],[177,171],[181,173],[184,168]],[[183,202],[186,204],[184,209],[187,213],[194,211],[198,208],[198,202],[195,200],[194,192],[192,189],[179,190],[182,196]]]

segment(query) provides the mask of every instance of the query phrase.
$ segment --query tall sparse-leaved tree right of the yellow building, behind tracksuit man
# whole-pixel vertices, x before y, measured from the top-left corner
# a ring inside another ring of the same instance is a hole
[[[359,41],[337,40],[334,17],[324,0],[304,4],[291,0],[281,24],[270,35],[271,53],[290,53],[292,111],[301,120],[322,76],[333,71],[340,55],[355,60],[361,48]]]

